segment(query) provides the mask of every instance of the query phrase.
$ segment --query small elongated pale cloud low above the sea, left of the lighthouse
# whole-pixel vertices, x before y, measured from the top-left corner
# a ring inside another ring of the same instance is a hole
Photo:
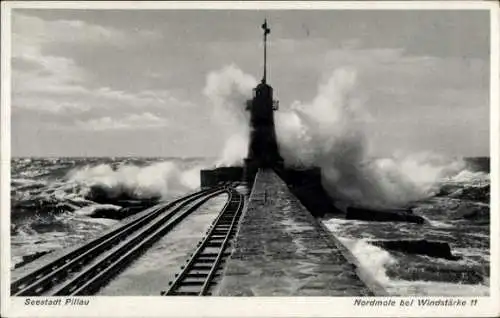
[[[78,120],[77,129],[103,131],[103,130],[128,130],[128,129],[155,129],[167,125],[165,118],[160,118],[152,113],[129,114],[122,118],[100,117],[88,121]]]

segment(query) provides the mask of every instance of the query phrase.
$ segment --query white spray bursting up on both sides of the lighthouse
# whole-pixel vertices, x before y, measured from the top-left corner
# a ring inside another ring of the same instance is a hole
[[[364,130],[371,115],[356,93],[356,78],[354,69],[337,69],[311,102],[294,102],[276,113],[280,153],[288,166],[318,166],[330,196],[376,207],[432,196],[439,180],[466,169],[462,159],[431,152],[374,158]],[[244,105],[255,84],[255,78],[234,65],[207,77],[204,93],[228,136],[218,166],[241,164],[246,157]]]

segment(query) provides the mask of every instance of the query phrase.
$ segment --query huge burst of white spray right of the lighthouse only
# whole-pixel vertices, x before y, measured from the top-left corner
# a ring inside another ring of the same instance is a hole
[[[329,194],[371,206],[394,206],[437,191],[438,180],[463,169],[434,153],[374,158],[364,125],[371,120],[355,94],[356,72],[338,69],[309,103],[277,114],[280,151],[288,165],[319,166]]]

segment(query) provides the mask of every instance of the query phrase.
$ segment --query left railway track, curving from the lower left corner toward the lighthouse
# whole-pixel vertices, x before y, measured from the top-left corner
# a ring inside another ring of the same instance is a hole
[[[152,208],[12,282],[11,295],[92,295],[199,206],[223,193],[231,197],[232,191],[211,188]]]

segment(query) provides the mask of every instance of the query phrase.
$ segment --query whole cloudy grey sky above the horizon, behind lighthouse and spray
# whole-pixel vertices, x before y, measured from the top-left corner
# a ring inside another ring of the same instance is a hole
[[[217,156],[203,94],[228,65],[280,107],[356,70],[374,155],[489,155],[489,12],[395,10],[12,11],[13,156]]]

